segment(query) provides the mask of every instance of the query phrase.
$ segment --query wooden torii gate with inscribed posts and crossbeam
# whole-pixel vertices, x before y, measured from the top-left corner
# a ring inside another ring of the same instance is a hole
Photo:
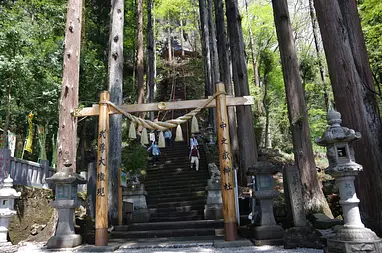
[[[218,146],[220,156],[220,175],[223,200],[224,234],[226,241],[237,239],[237,220],[235,212],[235,195],[233,184],[233,168],[231,146],[228,129],[227,106],[252,105],[253,97],[227,97],[223,83],[218,83],[217,96],[206,108],[216,107],[216,125],[218,127]],[[75,109],[74,117],[99,116],[98,151],[97,151],[97,183],[96,183],[96,231],[95,245],[108,244],[108,148],[109,115],[120,114],[110,104],[109,92],[100,94],[99,105]],[[128,113],[164,111],[197,108],[207,102],[207,99],[186,100],[167,103],[121,105],[118,108]]]

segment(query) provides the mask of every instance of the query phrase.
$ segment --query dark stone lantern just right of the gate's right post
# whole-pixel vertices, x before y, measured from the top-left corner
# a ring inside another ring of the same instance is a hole
[[[256,245],[283,244],[284,230],[276,224],[273,214],[273,199],[279,195],[275,190],[273,175],[281,171],[281,167],[266,161],[255,163],[248,169],[247,175],[256,176],[256,191],[253,197],[260,201],[260,226],[254,227],[253,236]]]

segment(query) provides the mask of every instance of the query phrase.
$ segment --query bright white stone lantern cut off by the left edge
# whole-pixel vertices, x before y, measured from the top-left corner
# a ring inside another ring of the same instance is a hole
[[[12,188],[13,180],[8,175],[8,178],[4,179],[3,188],[0,189],[0,245],[4,246],[10,244],[7,242],[7,232],[9,219],[16,214],[14,210],[14,201],[19,198],[21,192],[16,192]]]

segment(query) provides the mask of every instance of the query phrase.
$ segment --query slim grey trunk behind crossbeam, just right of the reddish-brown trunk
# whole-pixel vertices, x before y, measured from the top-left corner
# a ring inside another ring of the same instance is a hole
[[[147,0],[147,83],[148,102],[154,102],[155,92],[155,42],[152,20],[152,0]],[[154,120],[154,112],[150,112],[150,119]]]

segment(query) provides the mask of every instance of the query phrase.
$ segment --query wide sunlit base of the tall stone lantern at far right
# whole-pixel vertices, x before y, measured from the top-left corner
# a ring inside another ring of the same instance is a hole
[[[343,228],[327,244],[326,253],[382,253],[382,239],[368,228]]]

